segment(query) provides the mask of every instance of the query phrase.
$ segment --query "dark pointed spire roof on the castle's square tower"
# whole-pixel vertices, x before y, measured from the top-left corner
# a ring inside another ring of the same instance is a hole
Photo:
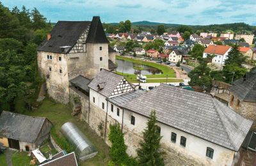
[[[108,39],[106,38],[102,24],[100,22],[99,16],[93,17],[86,42],[88,42],[88,43],[109,43]]]

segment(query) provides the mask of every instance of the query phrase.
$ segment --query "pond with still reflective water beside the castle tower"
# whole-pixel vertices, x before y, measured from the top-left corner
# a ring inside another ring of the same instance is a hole
[[[142,75],[155,75],[155,74],[162,74],[163,72],[157,68],[151,66],[145,66],[142,64],[132,63],[130,61],[118,60],[116,59],[118,67],[116,69],[117,72],[121,73],[129,73],[129,74],[137,74],[137,70],[134,70],[133,66],[140,66],[143,67],[141,70]]]

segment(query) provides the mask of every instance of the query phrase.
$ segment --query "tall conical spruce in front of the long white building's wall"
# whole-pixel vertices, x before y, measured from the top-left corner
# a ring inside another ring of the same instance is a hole
[[[156,111],[152,110],[147,128],[143,131],[143,141],[137,150],[138,163],[140,165],[164,165],[160,151],[160,128],[156,124]]]

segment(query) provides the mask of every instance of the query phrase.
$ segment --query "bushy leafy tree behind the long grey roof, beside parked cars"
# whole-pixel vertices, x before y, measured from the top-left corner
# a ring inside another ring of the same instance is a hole
[[[209,73],[211,69],[207,67],[207,59],[199,58],[199,65],[188,73],[190,86],[200,86],[209,91],[212,87],[211,76]]]

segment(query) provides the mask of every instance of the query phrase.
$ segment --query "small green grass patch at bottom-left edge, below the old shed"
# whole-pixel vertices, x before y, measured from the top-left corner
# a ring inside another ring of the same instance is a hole
[[[30,161],[32,160],[31,156],[28,156],[26,152],[15,151],[12,155],[12,165],[13,166],[29,166]]]

